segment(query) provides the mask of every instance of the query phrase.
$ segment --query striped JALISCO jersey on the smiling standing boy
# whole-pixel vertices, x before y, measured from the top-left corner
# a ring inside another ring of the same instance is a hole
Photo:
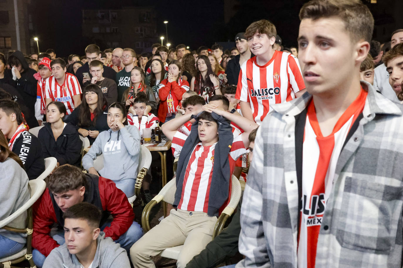
[[[253,119],[260,125],[271,104],[293,100],[295,93],[304,88],[298,59],[290,53],[274,51],[263,66],[256,63],[256,56],[242,64],[235,98],[250,102]]]

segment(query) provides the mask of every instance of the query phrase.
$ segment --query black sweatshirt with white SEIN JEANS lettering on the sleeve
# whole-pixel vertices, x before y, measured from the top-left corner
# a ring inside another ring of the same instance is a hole
[[[12,151],[19,156],[24,164],[29,180],[36,179],[45,171],[45,160],[42,145],[37,137],[24,131],[14,141]]]

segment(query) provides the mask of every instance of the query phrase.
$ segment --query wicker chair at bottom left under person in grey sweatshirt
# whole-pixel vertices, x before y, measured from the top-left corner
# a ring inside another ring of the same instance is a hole
[[[0,221],[0,229],[6,229],[8,231],[13,231],[17,233],[27,234],[27,245],[18,253],[0,259],[0,268],[13,268],[16,266],[11,266],[11,264],[16,264],[22,262],[23,260],[28,260],[29,266],[31,268],[36,267],[32,260],[32,205],[36,200],[42,195],[46,188],[46,183],[44,180],[30,180],[29,188],[31,192],[31,198],[28,202],[20,207],[17,211],[12,213],[6,219]]]

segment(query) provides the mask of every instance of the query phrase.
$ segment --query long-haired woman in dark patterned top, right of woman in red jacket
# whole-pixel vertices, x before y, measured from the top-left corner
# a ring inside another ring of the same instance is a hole
[[[190,82],[190,90],[202,96],[206,102],[214,95],[222,95],[220,81],[213,72],[210,60],[205,55],[200,55],[196,65],[197,74]]]

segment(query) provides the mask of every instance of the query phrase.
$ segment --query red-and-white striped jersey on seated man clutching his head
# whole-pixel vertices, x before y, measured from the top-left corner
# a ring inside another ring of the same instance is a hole
[[[214,147],[216,144],[203,146],[200,142],[193,149],[189,163],[186,166],[178,209],[207,213],[214,166]],[[242,135],[239,135],[234,139],[231,151],[228,154],[231,168],[229,176],[234,172],[235,160],[245,152]]]

